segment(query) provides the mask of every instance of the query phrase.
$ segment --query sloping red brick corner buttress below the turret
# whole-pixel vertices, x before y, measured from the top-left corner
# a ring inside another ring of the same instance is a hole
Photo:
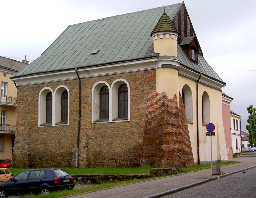
[[[178,107],[176,95],[149,92],[142,152],[142,166],[195,166],[181,95]]]

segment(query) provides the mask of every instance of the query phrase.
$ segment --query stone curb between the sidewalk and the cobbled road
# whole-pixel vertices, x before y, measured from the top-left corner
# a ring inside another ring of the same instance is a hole
[[[204,180],[199,181],[199,182],[191,183],[191,184],[188,184],[188,185],[185,185],[185,186],[181,186],[181,187],[178,187],[178,188],[174,188],[174,189],[171,189],[171,190],[168,190],[168,191],[160,192],[160,193],[157,193],[157,194],[155,194],[155,195],[151,195],[151,196],[144,197],[144,198],[163,197],[163,196],[166,196],[166,195],[170,195],[170,194],[172,194],[172,193],[175,193],[175,192],[179,192],[179,191],[182,191],[182,190],[185,190],[185,189],[194,187],[194,186],[198,186],[198,185],[203,184],[203,183],[206,183],[206,182],[213,181],[213,180],[215,180],[215,179],[219,179],[219,178],[222,178],[222,177],[226,177],[226,176],[228,176],[228,175],[232,175],[232,174],[235,174],[235,173],[239,173],[239,172],[242,172],[243,170],[248,170],[248,169],[255,168],[255,167],[256,167],[256,165],[250,166],[250,167],[248,167],[248,168],[244,168],[244,169],[236,170],[236,171],[233,171],[233,172],[230,172],[230,173],[226,173],[226,174],[224,174],[224,175],[218,175],[218,176],[215,176],[215,177],[212,177],[212,178],[204,179]]]

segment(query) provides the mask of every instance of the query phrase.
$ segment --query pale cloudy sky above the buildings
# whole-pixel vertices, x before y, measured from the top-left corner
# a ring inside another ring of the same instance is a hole
[[[182,0],[1,1],[0,56],[37,59],[70,24],[180,3]],[[227,83],[231,110],[256,106],[256,1],[184,0],[205,59]]]

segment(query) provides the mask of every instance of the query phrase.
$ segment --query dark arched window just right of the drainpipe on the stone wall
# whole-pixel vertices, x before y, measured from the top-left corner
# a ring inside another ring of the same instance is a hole
[[[108,87],[100,89],[100,119],[108,118]]]

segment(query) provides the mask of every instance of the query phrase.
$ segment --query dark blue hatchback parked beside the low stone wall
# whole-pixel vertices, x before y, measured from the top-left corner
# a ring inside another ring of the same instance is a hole
[[[30,192],[48,193],[74,187],[74,179],[65,169],[30,169],[19,172],[8,181],[1,182],[0,197]]]

